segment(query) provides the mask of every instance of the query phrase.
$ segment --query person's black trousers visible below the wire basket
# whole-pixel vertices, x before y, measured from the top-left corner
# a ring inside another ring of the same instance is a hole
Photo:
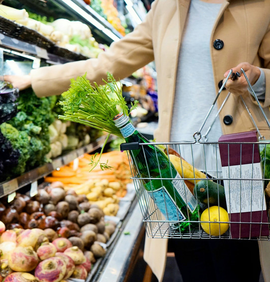
[[[256,240],[169,239],[183,282],[258,282]]]

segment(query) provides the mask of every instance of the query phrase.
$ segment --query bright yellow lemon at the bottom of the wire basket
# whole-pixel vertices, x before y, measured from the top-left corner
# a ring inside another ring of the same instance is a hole
[[[219,223],[228,222],[229,215],[226,209],[217,205],[206,208],[200,216],[200,221],[206,221],[201,222],[200,225],[201,228],[211,236],[222,235],[229,228],[229,223]]]

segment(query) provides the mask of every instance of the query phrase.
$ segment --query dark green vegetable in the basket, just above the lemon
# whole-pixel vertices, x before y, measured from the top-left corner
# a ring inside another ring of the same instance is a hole
[[[211,180],[196,183],[193,193],[197,200],[209,206],[219,205],[227,210],[224,187]]]

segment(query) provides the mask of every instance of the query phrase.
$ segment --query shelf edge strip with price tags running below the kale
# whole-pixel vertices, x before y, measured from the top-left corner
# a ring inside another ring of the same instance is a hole
[[[69,164],[70,162],[82,156],[83,154],[97,150],[98,148],[102,147],[106,137],[107,135],[104,135],[98,138],[96,141],[82,148],[79,148],[77,150],[74,150],[70,153],[67,153],[63,156],[54,159],[51,163],[45,164],[41,167],[26,172],[25,174],[17,178],[14,178],[12,180],[0,183],[0,197],[15,192],[19,188],[22,188],[28,184],[35,183],[35,181],[37,181],[38,179],[50,174],[52,171],[54,171],[59,167]],[[111,141],[113,138],[114,137],[111,136],[108,142]]]

